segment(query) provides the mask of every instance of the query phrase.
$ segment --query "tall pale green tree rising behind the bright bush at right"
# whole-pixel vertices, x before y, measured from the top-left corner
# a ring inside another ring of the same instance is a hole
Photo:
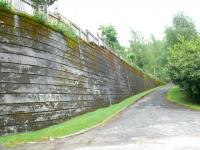
[[[185,40],[193,40],[198,36],[198,32],[196,30],[196,26],[193,20],[186,16],[183,13],[177,13],[172,19],[172,26],[166,28],[165,30],[165,38],[163,41],[163,51],[158,64],[165,64],[162,67],[160,73],[163,74],[161,76],[166,76],[168,78],[167,72],[169,71],[168,66],[168,59],[169,57],[169,50],[173,49],[176,44],[179,44],[180,37],[183,37]]]

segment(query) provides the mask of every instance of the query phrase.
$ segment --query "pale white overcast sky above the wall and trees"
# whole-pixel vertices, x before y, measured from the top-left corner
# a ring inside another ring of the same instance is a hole
[[[148,39],[162,39],[177,12],[184,12],[200,26],[200,0],[58,0],[58,11],[93,34],[100,25],[113,25],[118,39],[129,45],[131,29]]]

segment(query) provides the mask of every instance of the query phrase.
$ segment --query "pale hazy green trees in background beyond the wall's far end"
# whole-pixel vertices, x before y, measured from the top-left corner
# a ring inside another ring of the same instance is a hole
[[[139,32],[132,31],[128,58],[133,65],[137,65],[146,73],[168,80],[164,41],[157,40],[153,35],[145,41]]]

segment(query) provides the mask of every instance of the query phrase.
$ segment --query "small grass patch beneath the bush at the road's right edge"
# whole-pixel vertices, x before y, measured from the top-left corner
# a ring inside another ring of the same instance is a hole
[[[178,86],[174,86],[167,93],[167,100],[170,102],[183,105],[192,110],[200,111],[200,104],[194,102],[187,94]]]

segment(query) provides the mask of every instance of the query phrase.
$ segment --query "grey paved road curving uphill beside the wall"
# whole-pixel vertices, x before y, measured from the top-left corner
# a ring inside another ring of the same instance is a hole
[[[167,102],[168,89],[160,88],[84,134],[17,150],[199,150],[200,112]]]

